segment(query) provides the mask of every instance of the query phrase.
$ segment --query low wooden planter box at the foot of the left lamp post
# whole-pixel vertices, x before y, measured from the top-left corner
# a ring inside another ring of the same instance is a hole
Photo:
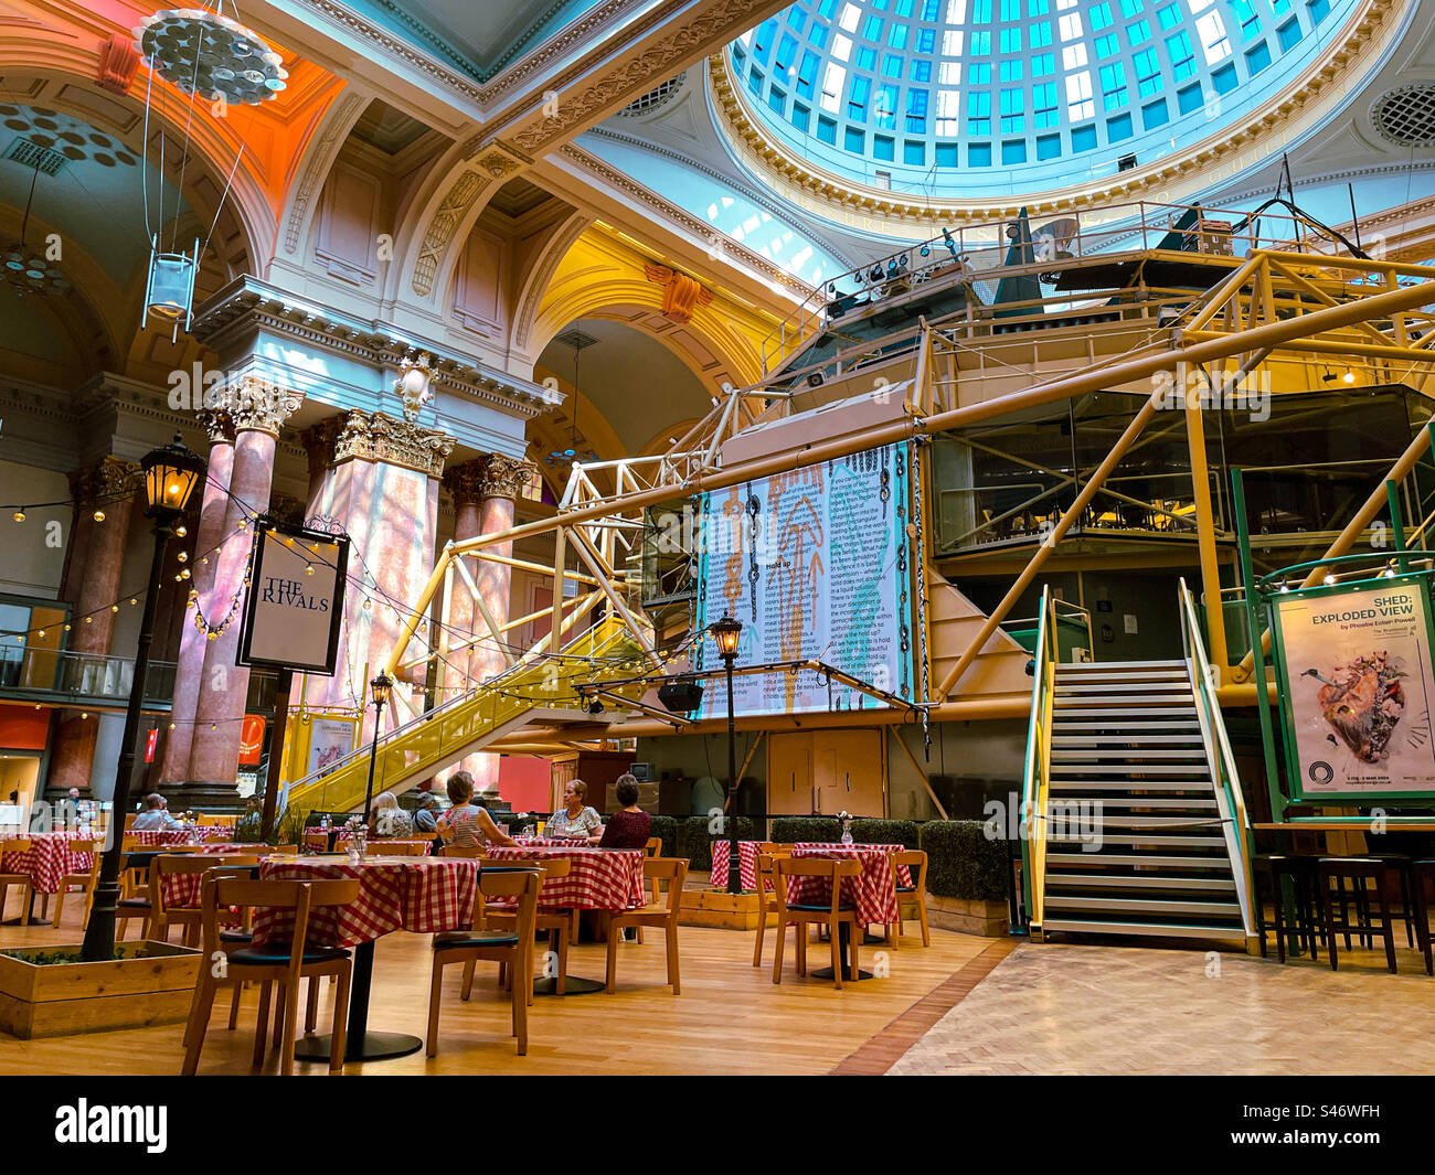
[[[109,963],[29,963],[0,954],[0,1030],[32,1040],[151,1024],[179,1024],[199,973],[199,951],[169,943],[116,943]],[[13,948],[43,955],[77,945]]]

